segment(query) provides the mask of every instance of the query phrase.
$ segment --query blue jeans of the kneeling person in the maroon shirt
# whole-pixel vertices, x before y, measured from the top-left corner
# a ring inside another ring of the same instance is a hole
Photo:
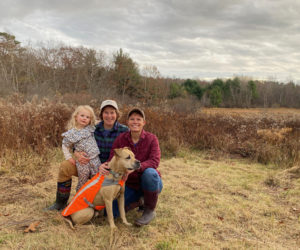
[[[144,196],[144,191],[160,193],[163,188],[161,178],[154,168],[147,168],[143,172],[140,181],[139,190],[125,186],[125,207],[139,201],[139,199]],[[120,216],[117,200],[113,202],[113,213],[114,217]]]

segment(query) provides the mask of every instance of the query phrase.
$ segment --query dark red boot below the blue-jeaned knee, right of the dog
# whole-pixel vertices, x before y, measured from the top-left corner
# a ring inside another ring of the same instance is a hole
[[[144,191],[144,212],[141,218],[135,221],[137,226],[144,226],[155,218],[155,207],[158,200],[158,192]]]

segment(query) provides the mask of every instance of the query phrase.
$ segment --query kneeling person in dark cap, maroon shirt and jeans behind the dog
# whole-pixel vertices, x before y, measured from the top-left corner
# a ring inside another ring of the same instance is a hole
[[[155,207],[158,194],[162,190],[161,175],[157,170],[160,162],[160,148],[154,134],[146,132],[145,114],[139,108],[132,109],[127,116],[127,125],[130,131],[120,134],[113,143],[112,149],[129,147],[135,158],[141,162],[141,168],[128,175],[125,188],[125,209],[128,211],[144,197],[144,212],[141,218],[135,221],[136,225],[147,225],[155,217]],[[111,150],[110,158],[114,151]],[[114,204],[114,214],[118,213],[117,204]]]

